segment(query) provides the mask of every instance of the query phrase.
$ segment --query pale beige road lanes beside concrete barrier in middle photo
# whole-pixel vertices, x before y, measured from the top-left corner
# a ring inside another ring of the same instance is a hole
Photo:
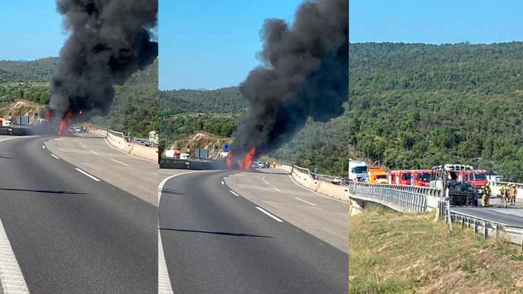
[[[348,254],[348,202],[305,189],[293,183],[286,172],[274,168],[236,173],[225,183],[258,206]]]

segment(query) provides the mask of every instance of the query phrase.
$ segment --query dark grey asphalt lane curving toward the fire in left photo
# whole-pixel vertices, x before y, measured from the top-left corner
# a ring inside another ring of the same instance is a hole
[[[156,207],[53,154],[50,139],[0,142],[0,220],[29,291],[156,293]]]

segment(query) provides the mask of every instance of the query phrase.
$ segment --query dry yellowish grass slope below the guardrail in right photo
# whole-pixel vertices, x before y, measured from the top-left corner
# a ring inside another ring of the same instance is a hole
[[[523,253],[474,239],[434,214],[387,210],[350,218],[350,293],[522,293]]]

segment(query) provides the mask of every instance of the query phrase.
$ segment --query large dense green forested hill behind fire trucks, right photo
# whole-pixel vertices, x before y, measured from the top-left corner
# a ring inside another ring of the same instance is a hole
[[[350,143],[391,168],[523,180],[523,43],[350,44]]]

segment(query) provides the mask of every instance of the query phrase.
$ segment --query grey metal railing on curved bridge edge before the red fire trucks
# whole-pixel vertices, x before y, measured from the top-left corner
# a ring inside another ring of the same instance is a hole
[[[369,200],[401,212],[426,212],[427,196],[439,196],[438,189],[401,185],[351,183],[351,198]]]

